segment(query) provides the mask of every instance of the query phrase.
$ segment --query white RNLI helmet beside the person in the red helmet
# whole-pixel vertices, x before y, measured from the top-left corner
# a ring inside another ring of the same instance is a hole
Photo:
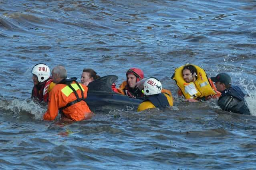
[[[149,78],[147,79],[144,84],[144,95],[149,96],[149,95],[156,95],[161,93],[162,91],[162,84],[159,80],[156,78]]]

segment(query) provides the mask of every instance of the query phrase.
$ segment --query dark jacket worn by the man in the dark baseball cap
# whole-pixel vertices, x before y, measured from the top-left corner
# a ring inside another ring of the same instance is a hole
[[[218,105],[224,111],[250,115],[244,97],[246,94],[238,86],[232,86],[224,91],[218,100]]]

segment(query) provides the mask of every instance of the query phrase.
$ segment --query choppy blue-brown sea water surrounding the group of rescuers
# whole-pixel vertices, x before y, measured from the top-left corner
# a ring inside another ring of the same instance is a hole
[[[1,169],[255,169],[256,1],[0,0]],[[29,100],[32,65],[89,67],[114,74],[143,69],[170,89],[174,106],[96,113],[89,121],[42,121]],[[184,103],[171,80],[194,63],[229,73],[253,115],[216,101]]]

